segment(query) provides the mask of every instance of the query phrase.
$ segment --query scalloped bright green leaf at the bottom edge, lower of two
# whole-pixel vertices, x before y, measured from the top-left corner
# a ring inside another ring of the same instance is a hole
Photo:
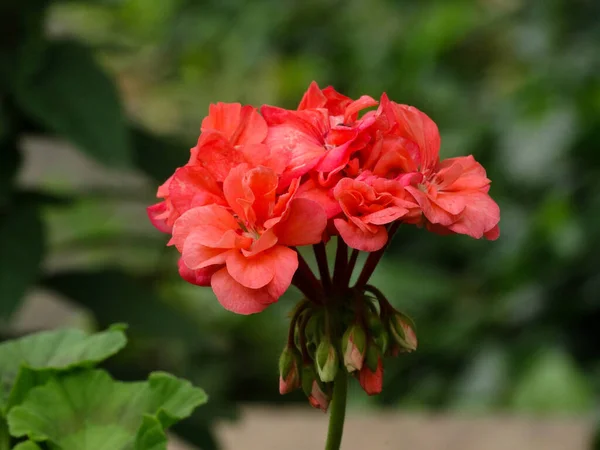
[[[61,450],[166,450],[164,429],[207,400],[202,389],[156,372],[119,382],[103,370],[59,374],[11,409],[13,436]]]

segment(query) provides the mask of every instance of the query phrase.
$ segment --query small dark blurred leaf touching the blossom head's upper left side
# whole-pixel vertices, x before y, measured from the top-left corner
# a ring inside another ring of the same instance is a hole
[[[154,136],[139,127],[131,135],[135,165],[157,182],[169,178],[190,157],[189,146],[173,138]]]

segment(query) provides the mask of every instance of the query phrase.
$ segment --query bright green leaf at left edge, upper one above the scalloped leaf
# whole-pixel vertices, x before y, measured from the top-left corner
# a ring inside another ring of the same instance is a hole
[[[36,333],[0,344],[0,408],[19,404],[55,371],[89,367],[117,353],[127,339],[121,327],[86,335],[80,330]]]

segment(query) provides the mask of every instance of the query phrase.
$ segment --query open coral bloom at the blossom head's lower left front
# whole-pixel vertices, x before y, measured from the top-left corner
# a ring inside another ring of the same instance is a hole
[[[289,287],[298,267],[288,246],[321,240],[326,217],[318,204],[277,196],[278,177],[266,167],[242,164],[223,183],[227,206],[211,204],[184,213],[172,243],[190,270],[211,268],[221,304],[240,314],[262,311]]]

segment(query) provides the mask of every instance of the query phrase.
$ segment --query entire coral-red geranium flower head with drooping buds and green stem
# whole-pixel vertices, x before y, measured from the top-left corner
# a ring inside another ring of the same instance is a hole
[[[148,208],[181,254],[182,278],[211,286],[224,308],[258,313],[292,284],[302,292],[279,389],[302,387],[312,406],[331,409],[327,449],[340,447],[348,374],[378,394],[384,357],[417,348],[413,321],[369,284],[399,226],[499,235],[484,168],[472,156],[440,160],[439,150],[436,124],[418,109],[313,82],[296,110],[211,105],[189,161]],[[351,284],[359,252],[368,256]]]

